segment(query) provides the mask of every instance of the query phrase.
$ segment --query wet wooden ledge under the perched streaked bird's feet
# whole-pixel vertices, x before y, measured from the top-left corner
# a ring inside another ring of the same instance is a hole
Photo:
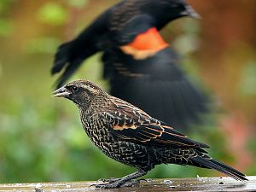
[[[101,192],[150,192],[150,191],[256,191],[256,177],[247,177],[248,182],[238,182],[230,177],[196,177],[173,179],[147,179],[137,186],[120,189],[95,189],[96,182],[67,183],[14,183],[0,184],[0,192],[34,191],[101,191]]]

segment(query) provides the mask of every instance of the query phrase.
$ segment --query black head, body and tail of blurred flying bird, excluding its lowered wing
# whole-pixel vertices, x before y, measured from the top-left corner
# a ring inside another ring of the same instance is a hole
[[[151,27],[158,30],[183,16],[197,16],[185,0],[123,0],[100,15],[77,38],[61,44],[51,72],[66,67],[58,80],[63,84],[79,65],[97,51],[129,44]]]

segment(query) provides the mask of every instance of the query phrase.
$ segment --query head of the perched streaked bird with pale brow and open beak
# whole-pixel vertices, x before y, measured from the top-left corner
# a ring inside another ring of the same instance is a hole
[[[88,108],[90,102],[96,96],[102,96],[104,93],[105,92],[101,88],[90,81],[76,80],[55,90],[53,96],[67,98],[79,107]]]

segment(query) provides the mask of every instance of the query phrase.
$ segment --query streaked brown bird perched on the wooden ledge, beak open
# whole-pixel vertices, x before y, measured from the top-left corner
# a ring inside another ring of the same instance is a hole
[[[207,156],[203,149],[208,148],[206,144],[191,140],[129,102],[108,95],[96,84],[73,81],[55,90],[54,96],[65,97],[78,106],[84,131],[104,154],[137,168],[128,176],[96,184],[97,188],[120,187],[162,163],[200,166],[236,180],[247,180],[241,172]]]

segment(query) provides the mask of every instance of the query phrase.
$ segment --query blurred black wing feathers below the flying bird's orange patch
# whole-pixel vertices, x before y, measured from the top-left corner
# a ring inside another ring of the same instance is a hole
[[[180,129],[200,120],[208,111],[208,98],[183,75],[179,58],[168,47],[144,60],[134,60],[116,50],[115,61],[105,70],[110,81],[110,95],[131,102],[156,119]],[[114,66],[114,67],[113,67]],[[129,66],[129,67],[127,67]]]

